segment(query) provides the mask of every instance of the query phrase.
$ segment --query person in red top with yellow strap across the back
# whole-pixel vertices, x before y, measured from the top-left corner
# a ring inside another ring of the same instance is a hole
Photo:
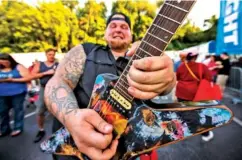
[[[188,53],[187,62],[180,65],[177,69],[177,86],[176,97],[179,102],[192,101],[196,95],[199,86],[200,75],[201,78],[212,81],[212,75],[208,70],[208,67],[203,63],[196,62],[198,53]],[[199,73],[199,66],[202,66],[202,73]],[[190,71],[196,76],[196,78],[190,73]],[[210,141],[214,135],[212,131],[202,133],[202,140]]]

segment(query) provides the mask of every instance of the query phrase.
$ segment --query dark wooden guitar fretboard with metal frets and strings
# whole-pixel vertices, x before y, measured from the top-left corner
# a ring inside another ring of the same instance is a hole
[[[126,77],[132,62],[144,57],[161,56],[195,2],[196,0],[167,0],[163,3],[114,87],[129,102],[132,102],[134,97],[127,91],[129,84]]]

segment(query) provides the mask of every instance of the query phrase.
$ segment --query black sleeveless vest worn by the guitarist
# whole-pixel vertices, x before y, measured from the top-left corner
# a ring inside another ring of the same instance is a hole
[[[116,60],[107,46],[95,45],[91,43],[82,44],[87,55],[83,75],[74,89],[78,106],[86,108],[91,98],[91,93],[96,77],[102,73],[118,75],[120,65],[116,66]],[[128,61],[128,60],[126,60]],[[119,63],[121,64],[121,63]],[[124,67],[126,64],[123,64]],[[62,127],[61,123],[54,118],[53,132]]]

